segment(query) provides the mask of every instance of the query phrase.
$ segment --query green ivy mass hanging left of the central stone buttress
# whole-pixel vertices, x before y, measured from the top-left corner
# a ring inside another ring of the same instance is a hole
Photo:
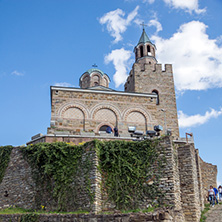
[[[33,168],[33,179],[39,188],[38,191],[43,191],[43,195],[45,188],[48,192],[52,192],[58,204],[58,211],[66,211],[69,200],[73,201],[78,195],[77,192],[84,189],[75,184],[76,178],[82,176],[80,176],[81,170],[81,173],[85,175],[85,180],[88,181],[92,163],[90,154],[82,158],[85,148],[86,145],[76,146],[55,142],[38,143],[23,149],[24,157]],[[86,192],[88,192],[90,200],[93,201],[90,184],[87,186]],[[40,199],[37,205],[41,204]]]

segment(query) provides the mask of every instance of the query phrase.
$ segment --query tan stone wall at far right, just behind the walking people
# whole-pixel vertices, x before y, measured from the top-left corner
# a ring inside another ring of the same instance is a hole
[[[202,173],[203,199],[207,203],[207,195],[210,186],[217,188],[217,166],[206,163],[200,158],[200,168]]]

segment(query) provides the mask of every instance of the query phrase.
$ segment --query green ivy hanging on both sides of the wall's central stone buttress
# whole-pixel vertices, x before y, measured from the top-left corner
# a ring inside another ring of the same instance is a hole
[[[22,151],[32,166],[39,192],[39,208],[47,204],[41,202],[47,190],[49,197],[55,199],[56,210],[67,211],[67,203],[75,203],[81,191],[88,194],[91,203],[94,202],[89,173],[95,151],[103,192],[117,209],[137,209],[147,199],[151,203],[160,203],[163,192],[159,188],[159,178],[164,162],[160,149],[156,139],[142,142],[94,140],[81,146],[64,142],[38,143]],[[84,187],[76,182],[79,178],[84,179]]]

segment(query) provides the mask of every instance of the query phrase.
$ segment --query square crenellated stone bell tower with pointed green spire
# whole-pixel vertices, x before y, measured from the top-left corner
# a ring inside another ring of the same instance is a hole
[[[124,85],[125,91],[157,95],[155,108],[158,124],[165,130],[170,129],[174,138],[179,137],[172,65],[165,64],[162,68],[162,64],[158,64],[156,46],[144,27],[134,53],[135,62]]]

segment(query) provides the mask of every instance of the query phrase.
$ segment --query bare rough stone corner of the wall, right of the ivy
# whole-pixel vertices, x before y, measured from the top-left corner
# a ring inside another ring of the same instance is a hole
[[[157,150],[160,152],[160,156],[164,156],[163,166],[161,169],[161,178],[159,187],[164,194],[162,204],[173,207],[178,214],[175,214],[177,221],[184,221],[181,216],[182,206],[180,197],[180,186],[179,186],[179,171],[177,163],[177,149],[173,145],[170,137],[164,137],[160,140]],[[155,179],[153,179],[155,180]],[[143,202],[140,205],[141,209],[146,209],[150,204],[150,200],[144,197]],[[115,205],[111,202],[107,202],[106,193],[102,193],[101,199],[102,211],[112,211],[115,209]]]

